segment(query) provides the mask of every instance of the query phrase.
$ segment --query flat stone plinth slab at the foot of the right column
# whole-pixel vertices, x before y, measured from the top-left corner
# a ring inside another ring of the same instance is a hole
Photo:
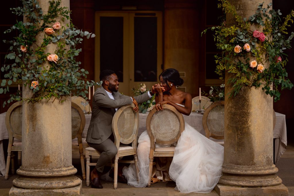
[[[235,187],[217,184],[214,190],[220,196],[229,195],[288,195],[288,188],[280,184],[269,187]]]

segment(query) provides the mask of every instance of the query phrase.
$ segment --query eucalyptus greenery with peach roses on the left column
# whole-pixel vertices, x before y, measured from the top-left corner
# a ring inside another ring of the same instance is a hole
[[[63,96],[71,94],[86,97],[90,86],[101,85],[100,82],[87,80],[88,71],[81,69],[81,62],[75,59],[81,52],[81,48],[76,48],[76,45],[83,41],[82,37],[93,38],[95,35],[76,29],[72,23],[62,25],[65,19],[70,19],[70,10],[61,7],[60,0],[49,1],[50,6],[46,14],[37,0],[21,1],[23,7],[11,10],[16,15],[25,16],[26,22],[19,21],[4,32],[17,30],[19,35],[11,41],[3,40],[11,46],[5,56],[6,62],[1,67],[6,79],[2,80],[0,93],[7,93],[13,82],[23,81],[33,93],[28,101],[50,99],[52,96],[63,101]],[[59,21],[56,21],[56,18]],[[41,44],[36,43],[37,36],[43,37]],[[50,43],[56,43],[54,53],[46,51],[46,46]],[[24,98],[21,91],[17,91],[10,95],[7,103],[22,99]],[[6,101],[3,106],[5,104]]]

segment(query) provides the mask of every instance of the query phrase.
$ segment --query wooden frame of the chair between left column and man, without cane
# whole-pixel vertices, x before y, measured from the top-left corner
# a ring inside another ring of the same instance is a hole
[[[71,136],[72,140],[75,139],[75,138],[78,138],[78,146],[72,145],[71,149],[72,149],[72,151],[79,151],[79,153],[80,153],[82,177],[83,177],[83,180],[86,180],[84,150],[87,147],[89,147],[89,145],[88,145],[88,143],[83,143],[82,142],[82,133],[83,133],[83,130],[85,128],[86,118],[85,118],[85,114],[83,113],[83,110],[76,103],[71,102],[71,107],[75,108],[78,111],[78,113],[80,114],[80,117],[81,117],[81,124],[80,124],[80,127],[78,128],[77,134]],[[72,128],[72,132],[73,132],[73,128]]]

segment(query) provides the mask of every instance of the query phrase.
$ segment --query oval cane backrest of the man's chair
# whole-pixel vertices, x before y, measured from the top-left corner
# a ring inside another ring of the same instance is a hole
[[[139,129],[139,113],[133,108],[135,105],[129,104],[119,108],[113,115],[112,132],[114,144],[119,147],[119,143],[130,144],[136,148]]]

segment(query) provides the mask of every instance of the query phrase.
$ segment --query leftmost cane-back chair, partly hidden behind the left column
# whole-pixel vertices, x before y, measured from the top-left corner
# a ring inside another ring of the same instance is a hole
[[[6,172],[4,179],[8,179],[8,172],[11,160],[11,173],[14,174],[13,151],[18,151],[18,162],[21,163],[21,123],[22,123],[22,102],[12,104],[6,112],[5,125],[9,135],[7,148]]]

